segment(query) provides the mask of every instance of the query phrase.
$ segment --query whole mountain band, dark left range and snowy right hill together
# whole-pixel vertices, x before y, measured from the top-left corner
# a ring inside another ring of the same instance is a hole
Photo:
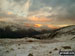
[[[22,24],[12,22],[0,22],[0,38],[23,37],[36,39],[73,40],[75,39],[75,25],[51,30],[26,27]]]

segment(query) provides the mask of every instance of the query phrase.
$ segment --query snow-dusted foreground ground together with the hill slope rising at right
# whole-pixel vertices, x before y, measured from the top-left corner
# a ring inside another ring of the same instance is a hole
[[[74,51],[75,26],[68,26],[26,38],[0,39],[0,56],[60,56],[60,51]]]

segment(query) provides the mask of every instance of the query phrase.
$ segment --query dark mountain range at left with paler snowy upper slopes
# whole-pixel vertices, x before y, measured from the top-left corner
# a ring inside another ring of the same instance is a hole
[[[33,27],[26,27],[22,24],[12,22],[0,22],[0,38],[23,38],[44,34],[50,30],[38,30]]]

